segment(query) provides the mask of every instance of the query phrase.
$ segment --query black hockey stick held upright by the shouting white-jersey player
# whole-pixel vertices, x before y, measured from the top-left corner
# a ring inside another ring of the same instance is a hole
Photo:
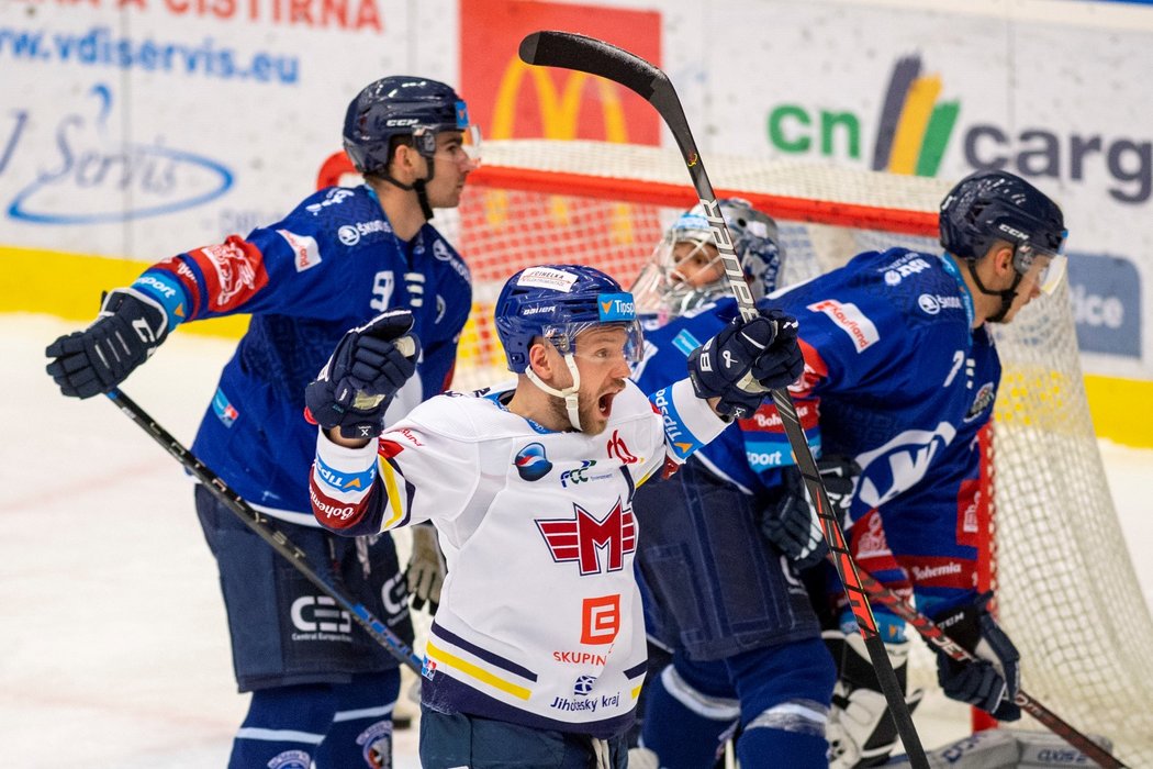
[[[563,67],[605,77],[636,92],[656,108],[680,148],[685,167],[693,179],[696,196],[700,198],[704,216],[713,228],[713,239],[716,241],[725,277],[733,296],[737,299],[740,315],[746,321],[756,317],[758,311],[753,302],[753,294],[748,284],[745,282],[745,272],[737,258],[736,250],[733,250],[732,235],[721,213],[713,184],[704,172],[704,163],[696,151],[696,143],[688,127],[688,120],[685,118],[685,111],[680,106],[680,99],[677,97],[669,76],[633,53],[609,45],[603,40],[572,32],[533,32],[521,40],[520,58],[529,65]],[[781,421],[785,427],[785,435],[797,460],[797,467],[805,478],[824,538],[829,543],[829,550],[834,553],[837,573],[845,587],[849,605],[852,606],[853,615],[857,617],[857,626],[865,639],[865,647],[868,649],[873,669],[876,671],[881,689],[889,703],[897,732],[913,767],[927,769],[928,760],[925,757],[925,751],[917,736],[917,729],[913,725],[909,706],[905,703],[904,693],[897,683],[897,676],[892,671],[892,663],[889,662],[889,654],[884,650],[884,642],[877,631],[873,610],[861,589],[860,580],[857,576],[857,564],[853,563],[852,556],[849,553],[841,523],[832,512],[832,505],[829,504],[829,496],[821,481],[821,474],[816,468],[816,460],[813,459],[808,440],[805,438],[797,406],[789,392],[783,389],[773,391],[773,402],[781,414]]]

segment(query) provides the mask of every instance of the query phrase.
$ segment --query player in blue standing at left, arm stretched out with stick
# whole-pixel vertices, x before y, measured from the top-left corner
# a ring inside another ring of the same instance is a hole
[[[452,88],[379,80],[349,104],[345,150],[359,187],[310,195],[287,217],[159,262],[107,294],[84,331],[47,348],[66,395],[107,392],[180,324],[251,315],[201,423],[194,453],[302,548],[349,595],[412,638],[391,537],[334,537],[311,514],[316,429],[304,389],[345,332],[390,308],[410,311],[423,348],[390,419],[447,387],[470,309],[468,267],[429,224],[454,208],[475,159],[472,127]],[[406,316],[407,317],[407,316]],[[407,359],[399,361],[412,367]],[[331,598],[209,491],[196,510],[217,558],[233,664],[251,704],[229,767],[391,766],[397,662]]]

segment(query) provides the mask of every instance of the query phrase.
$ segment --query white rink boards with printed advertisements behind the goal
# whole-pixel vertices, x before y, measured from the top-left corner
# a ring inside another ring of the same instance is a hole
[[[1143,5],[9,0],[0,249],[151,262],[267,223],[339,149],[348,100],[387,74],[454,84],[490,137],[670,141],[635,95],[521,65],[538,29],[661,66],[703,152],[1024,175],[1067,213],[1086,369],[1153,380]]]

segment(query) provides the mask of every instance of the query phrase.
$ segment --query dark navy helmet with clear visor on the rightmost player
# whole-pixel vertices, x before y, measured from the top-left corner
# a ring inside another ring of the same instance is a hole
[[[960,180],[941,202],[941,244],[975,261],[996,241],[1013,247],[1013,269],[1024,276],[1048,257],[1038,286],[1052,293],[1064,274],[1068,231],[1057,204],[1008,171],[978,171]]]

